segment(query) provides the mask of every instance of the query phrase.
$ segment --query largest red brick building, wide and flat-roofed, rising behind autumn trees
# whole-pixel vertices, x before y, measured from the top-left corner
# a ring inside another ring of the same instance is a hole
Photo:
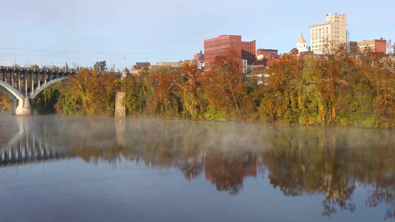
[[[240,59],[247,60],[248,65],[255,63],[255,40],[241,41],[241,36],[222,35],[217,38],[204,40],[205,71],[211,69],[211,62],[216,55],[224,55],[229,50],[237,51]]]

